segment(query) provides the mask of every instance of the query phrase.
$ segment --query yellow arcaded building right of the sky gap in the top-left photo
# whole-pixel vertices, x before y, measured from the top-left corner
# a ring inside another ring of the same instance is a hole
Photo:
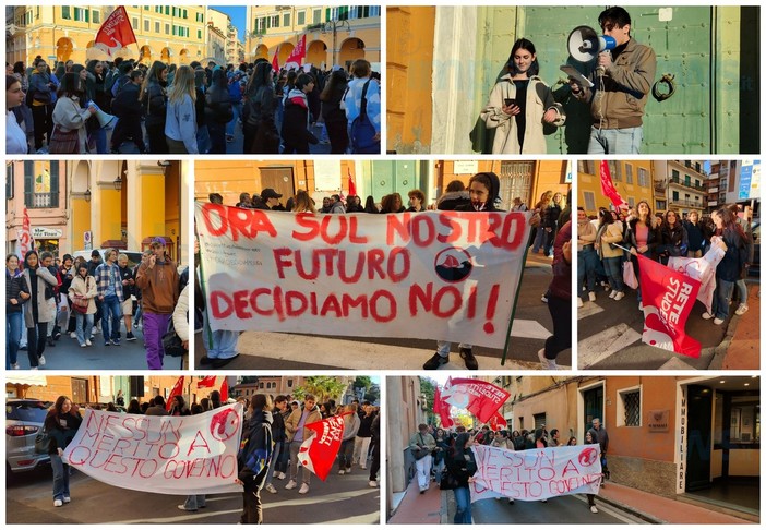
[[[246,60],[272,61],[282,67],[306,34],[306,61],[320,69],[345,69],[356,59],[381,61],[381,8],[379,5],[248,5]]]

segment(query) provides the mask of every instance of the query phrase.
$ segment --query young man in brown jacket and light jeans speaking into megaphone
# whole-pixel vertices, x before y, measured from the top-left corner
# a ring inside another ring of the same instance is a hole
[[[644,138],[644,107],[655,82],[655,51],[631,37],[631,15],[613,7],[598,16],[603,35],[614,39],[613,49],[598,53],[591,87],[570,77],[572,94],[590,104],[594,119],[589,155],[638,154]]]

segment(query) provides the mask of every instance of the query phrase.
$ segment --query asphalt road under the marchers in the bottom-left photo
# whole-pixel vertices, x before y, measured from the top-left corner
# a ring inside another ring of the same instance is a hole
[[[326,482],[312,477],[311,490],[285,490],[287,481],[275,481],[276,494],[261,492],[266,523],[372,525],[380,520],[380,490],[370,487],[367,472],[331,474]],[[196,513],[181,511],[179,495],[123,490],[74,472],[70,482],[72,502],[53,507],[52,473],[40,469],[14,478],[5,490],[7,523],[228,523],[239,522],[242,496],[210,495],[207,506]]]

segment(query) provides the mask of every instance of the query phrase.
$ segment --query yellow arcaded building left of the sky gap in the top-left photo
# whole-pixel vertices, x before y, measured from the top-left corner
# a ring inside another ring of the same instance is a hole
[[[36,56],[45,60],[84,64],[96,33],[113,7],[22,5],[7,21],[7,61],[29,64]],[[214,10],[203,5],[125,5],[137,44],[127,46],[123,57],[149,64],[161,60],[188,64],[211,56],[208,22]],[[218,13],[218,12],[215,12]],[[226,35],[228,17],[218,27]],[[224,37],[225,40],[225,37]],[[225,57],[224,44],[222,60]],[[93,55],[96,50],[93,50]],[[106,59],[105,57],[98,57]]]

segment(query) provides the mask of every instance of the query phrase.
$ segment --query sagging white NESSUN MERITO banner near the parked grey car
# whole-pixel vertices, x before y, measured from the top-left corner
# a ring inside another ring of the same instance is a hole
[[[128,490],[241,492],[235,483],[241,430],[240,403],[184,417],[87,409],[63,459],[100,482]]]

